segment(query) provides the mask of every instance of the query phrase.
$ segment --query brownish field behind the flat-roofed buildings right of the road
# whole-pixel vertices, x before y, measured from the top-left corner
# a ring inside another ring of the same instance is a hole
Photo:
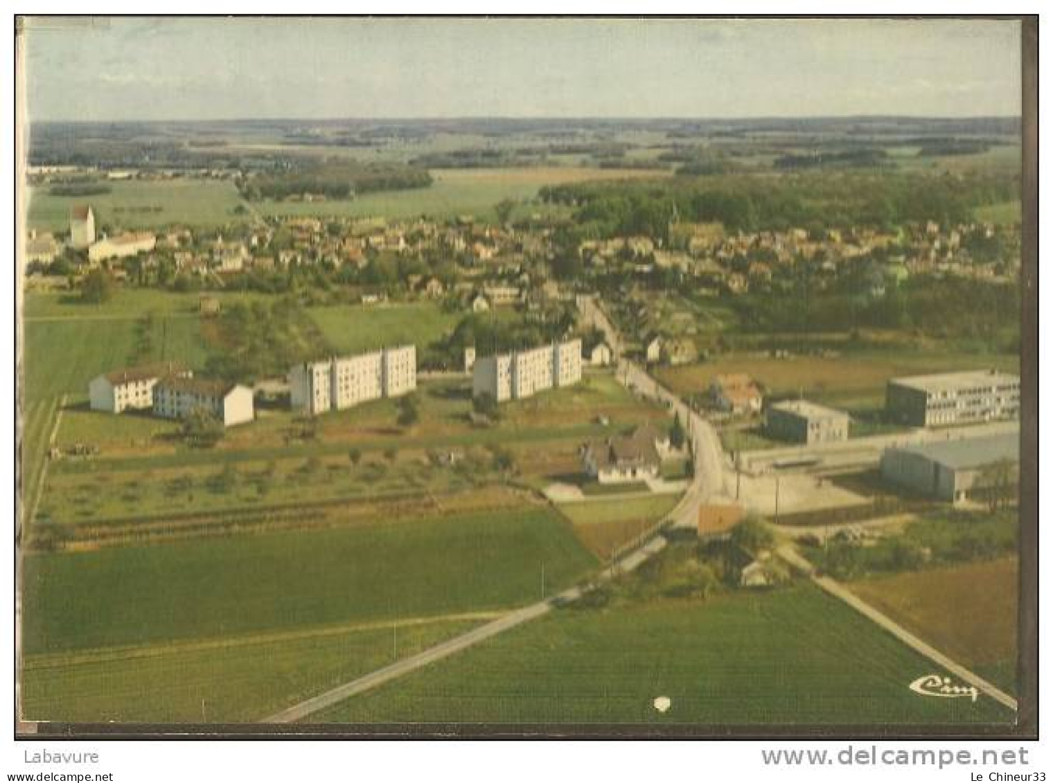
[[[890,378],[979,368],[1018,373],[1019,367],[1017,355],[889,350],[846,353],[836,358],[729,355],[710,362],[660,367],[656,375],[680,395],[703,392],[718,374],[746,373],[764,384],[769,394],[803,393],[806,399],[840,407],[881,407]]]

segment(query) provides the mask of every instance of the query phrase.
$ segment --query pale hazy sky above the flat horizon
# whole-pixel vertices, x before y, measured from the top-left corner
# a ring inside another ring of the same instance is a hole
[[[1018,116],[991,20],[31,19],[34,120]]]

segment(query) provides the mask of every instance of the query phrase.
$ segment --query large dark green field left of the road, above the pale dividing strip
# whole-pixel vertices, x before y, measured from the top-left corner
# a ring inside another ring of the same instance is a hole
[[[25,559],[27,655],[524,604],[594,564],[544,508]]]

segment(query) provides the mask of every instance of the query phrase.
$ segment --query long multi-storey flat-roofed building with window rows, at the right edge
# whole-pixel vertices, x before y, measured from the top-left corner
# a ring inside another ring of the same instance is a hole
[[[1015,419],[1020,378],[993,369],[893,378],[885,405],[890,420],[919,427]]]

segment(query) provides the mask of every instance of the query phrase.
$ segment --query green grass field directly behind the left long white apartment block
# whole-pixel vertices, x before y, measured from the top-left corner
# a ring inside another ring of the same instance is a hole
[[[325,341],[341,354],[413,343],[419,355],[425,345],[452,332],[463,317],[431,302],[332,305],[311,307],[307,313]]]

